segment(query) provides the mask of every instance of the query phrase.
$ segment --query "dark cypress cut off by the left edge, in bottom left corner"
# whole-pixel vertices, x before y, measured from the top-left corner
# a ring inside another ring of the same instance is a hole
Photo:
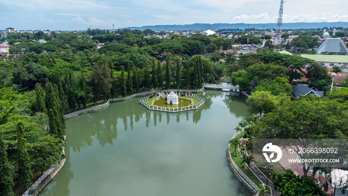
[[[13,196],[13,166],[8,163],[6,144],[0,134],[0,196]]]

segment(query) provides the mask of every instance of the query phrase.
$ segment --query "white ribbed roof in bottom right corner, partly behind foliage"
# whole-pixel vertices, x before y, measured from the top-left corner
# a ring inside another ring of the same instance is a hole
[[[334,196],[347,196],[341,194],[341,189],[345,185],[347,185],[348,182],[348,171],[347,170],[341,170],[338,168],[333,168],[331,170],[331,184],[333,187],[333,193]]]

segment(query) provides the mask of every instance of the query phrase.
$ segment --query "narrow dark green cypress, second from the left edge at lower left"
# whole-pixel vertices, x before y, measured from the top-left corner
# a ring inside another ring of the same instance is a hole
[[[29,188],[32,184],[33,173],[30,168],[30,157],[26,150],[26,140],[24,139],[24,125],[17,123],[17,154],[18,154],[18,184]]]

